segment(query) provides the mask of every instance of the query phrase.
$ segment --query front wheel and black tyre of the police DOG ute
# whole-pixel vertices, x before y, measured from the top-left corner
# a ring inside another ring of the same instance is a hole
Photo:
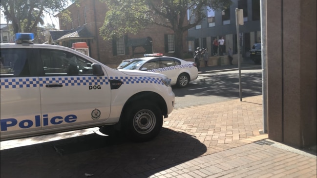
[[[161,131],[163,116],[155,103],[141,102],[130,105],[125,117],[127,137],[134,141],[148,141]]]

